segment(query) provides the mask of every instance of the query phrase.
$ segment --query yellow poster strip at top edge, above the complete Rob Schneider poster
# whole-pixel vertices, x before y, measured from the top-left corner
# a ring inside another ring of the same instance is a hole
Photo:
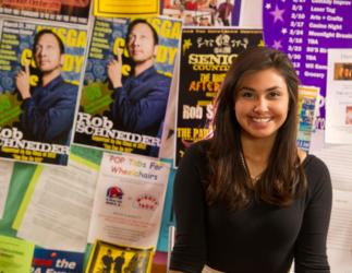
[[[96,16],[158,15],[158,0],[95,0]]]

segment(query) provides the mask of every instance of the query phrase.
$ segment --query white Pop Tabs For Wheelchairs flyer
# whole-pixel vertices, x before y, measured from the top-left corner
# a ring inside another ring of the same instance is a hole
[[[157,159],[105,153],[88,241],[156,247],[169,171]]]

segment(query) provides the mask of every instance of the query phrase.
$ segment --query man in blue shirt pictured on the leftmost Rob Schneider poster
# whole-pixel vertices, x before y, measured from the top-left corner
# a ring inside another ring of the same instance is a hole
[[[77,86],[61,76],[64,46],[50,29],[34,38],[33,55],[39,71],[39,84],[29,86],[29,63],[16,76],[16,87],[23,99],[21,130],[24,139],[50,144],[70,144]]]

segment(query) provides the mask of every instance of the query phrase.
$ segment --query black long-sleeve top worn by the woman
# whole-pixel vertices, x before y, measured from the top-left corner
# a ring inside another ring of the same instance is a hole
[[[170,269],[201,272],[204,264],[223,272],[328,273],[326,238],[331,211],[331,180],[314,155],[303,162],[307,192],[289,206],[259,201],[241,211],[208,206],[206,142],[194,144],[174,181],[175,245]]]

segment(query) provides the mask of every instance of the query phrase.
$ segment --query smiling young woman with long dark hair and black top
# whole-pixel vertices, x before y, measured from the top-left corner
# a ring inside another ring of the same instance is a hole
[[[296,146],[299,79],[288,57],[252,48],[227,73],[214,134],[174,181],[171,272],[328,273],[331,181]]]

